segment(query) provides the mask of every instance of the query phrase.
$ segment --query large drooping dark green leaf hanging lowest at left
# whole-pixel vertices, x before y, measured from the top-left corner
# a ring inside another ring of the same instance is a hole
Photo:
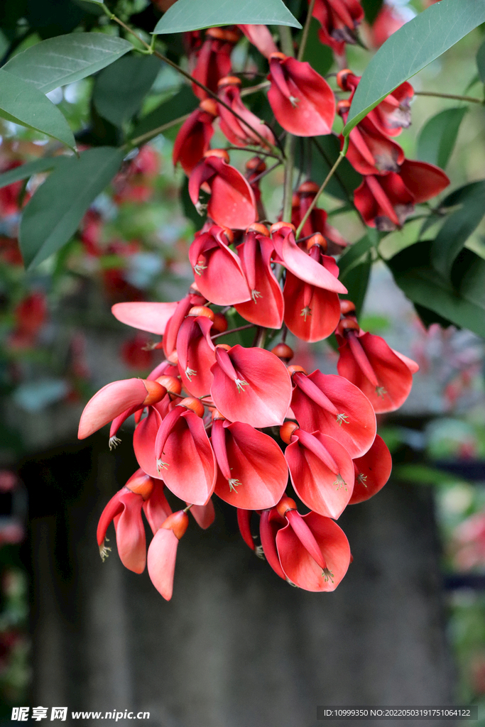
[[[84,151],[79,159],[71,156],[59,160],[23,211],[20,250],[26,267],[39,265],[69,241],[123,157],[123,149],[105,146]]]

